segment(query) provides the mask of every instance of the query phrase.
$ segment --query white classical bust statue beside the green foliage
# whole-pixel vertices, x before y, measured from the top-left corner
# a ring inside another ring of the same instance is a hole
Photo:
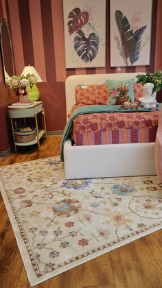
[[[141,104],[143,104],[144,108],[151,108],[154,102],[154,98],[152,97],[152,89],[154,88],[154,84],[146,83],[143,85],[143,97],[139,98]]]

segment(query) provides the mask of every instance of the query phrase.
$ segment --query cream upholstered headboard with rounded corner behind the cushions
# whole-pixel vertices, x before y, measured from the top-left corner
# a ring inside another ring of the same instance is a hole
[[[137,73],[109,73],[109,74],[85,74],[85,75],[71,75],[67,77],[65,81],[65,97],[67,114],[71,110],[72,106],[76,104],[76,91],[75,87],[78,84],[94,85],[104,84],[106,80],[127,80],[135,77],[137,74],[143,74],[143,72]]]

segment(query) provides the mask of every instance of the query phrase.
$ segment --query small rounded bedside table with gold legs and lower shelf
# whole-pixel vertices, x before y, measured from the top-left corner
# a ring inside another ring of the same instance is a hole
[[[40,129],[38,130],[38,121],[37,121],[37,114],[42,112],[43,113],[43,119],[44,119],[44,126],[45,130]],[[40,149],[40,138],[45,134],[45,138],[47,139],[47,130],[46,130],[46,123],[45,123],[45,109],[43,108],[42,101],[37,101],[36,103],[30,105],[30,106],[8,106],[8,114],[11,119],[11,125],[12,125],[12,134],[14,138],[14,149],[16,152],[16,146],[28,146],[28,145],[34,145],[38,143],[38,149]],[[13,119],[16,118],[23,118],[24,124],[25,124],[25,118],[28,117],[34,117],[36,121],[36,138],[33,141],[27,142],[27,143],[20,143],[15,141],[14,136],[14,123]]]

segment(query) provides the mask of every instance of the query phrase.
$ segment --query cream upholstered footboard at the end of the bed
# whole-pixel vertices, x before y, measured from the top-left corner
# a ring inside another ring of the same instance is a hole
[[[65,178],[104,178],[156,175],[155,143],[64,146]]]

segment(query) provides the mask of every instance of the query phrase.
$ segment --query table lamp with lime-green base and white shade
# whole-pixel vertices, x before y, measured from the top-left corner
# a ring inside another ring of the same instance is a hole
[[[21,75],[26,76],[29,73],[34,74],[36,76],[37,82],[43,82],[43,80],[40,78],[40,75],[38,75],[38,72],[36,71],[34,66],[30,66],[30,65],[25,66]],[[36,85],[34,85],[32,88],[30,88],[30,86],[28,86],[27,91],[28,91],[28,97],[29,97],[30,101],[36,101],[39,99],[40,93],[39,93]]]

